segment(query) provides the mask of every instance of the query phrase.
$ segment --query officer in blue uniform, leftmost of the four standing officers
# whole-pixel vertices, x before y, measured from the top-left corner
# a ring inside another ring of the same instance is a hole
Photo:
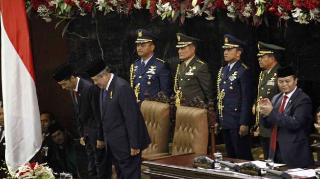
[[[173,92],[171,67],[154,55],[156,36],[144,29],[135,31],[137,35],[137,53],[141,57],[130,67],[130,85],[134,89],[137,103],[145,99],[145,92],[152,98],[162,91],[168,98]]]

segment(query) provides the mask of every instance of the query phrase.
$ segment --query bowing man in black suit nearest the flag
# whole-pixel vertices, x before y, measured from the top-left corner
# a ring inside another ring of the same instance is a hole
[[[52,77],[65,90],[70,90],[74,102],[80,143],[89,157],[88,172],[91,179],[106,179],[106,154],[102,127],[99,125],[99,89],[90,81],[74,74],[69,63],[57,67]],[[110,174],[111,175],[111,174]]]

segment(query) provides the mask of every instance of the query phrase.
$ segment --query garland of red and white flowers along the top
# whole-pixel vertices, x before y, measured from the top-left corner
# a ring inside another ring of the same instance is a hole
[[[195,16],[214,20],[215,12],[224,9],[233,20],[239,18],[256,25],[266,20],[264,15],[276,16],[285,22],[290,19],[301,24],[320,22],[320,0],[26,0],[25,4],[46,22],[52,17],[74,19],[90,13],[94,16],[97,10],[104,15],[111,11],[128,15],[134,9],[148,9],[152,19],[160,16],[162,20],[175,22],[179,18],[181,24],[185,18]]]

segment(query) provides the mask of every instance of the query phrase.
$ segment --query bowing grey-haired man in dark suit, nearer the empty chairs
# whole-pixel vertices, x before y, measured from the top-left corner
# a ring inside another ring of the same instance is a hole
[[[100,90],[100,111],[109,167],[116,166],[118,179],[141,178],[141,152],[150,143],[142,113],[133,89],[120,77],[110,73],[103,60],[87,68]]]

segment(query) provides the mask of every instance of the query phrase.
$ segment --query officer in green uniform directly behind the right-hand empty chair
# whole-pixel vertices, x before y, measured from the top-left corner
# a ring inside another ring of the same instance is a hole
[[[199,39],[177,33],[177,45],[180,63],[174,78],[174,92],[177,99],[185,98],[186,104],[195,97],[207,102],[213,99],[213,79],[207,63],[196,55]],[[178,102],[179,100],[177,100]]]

